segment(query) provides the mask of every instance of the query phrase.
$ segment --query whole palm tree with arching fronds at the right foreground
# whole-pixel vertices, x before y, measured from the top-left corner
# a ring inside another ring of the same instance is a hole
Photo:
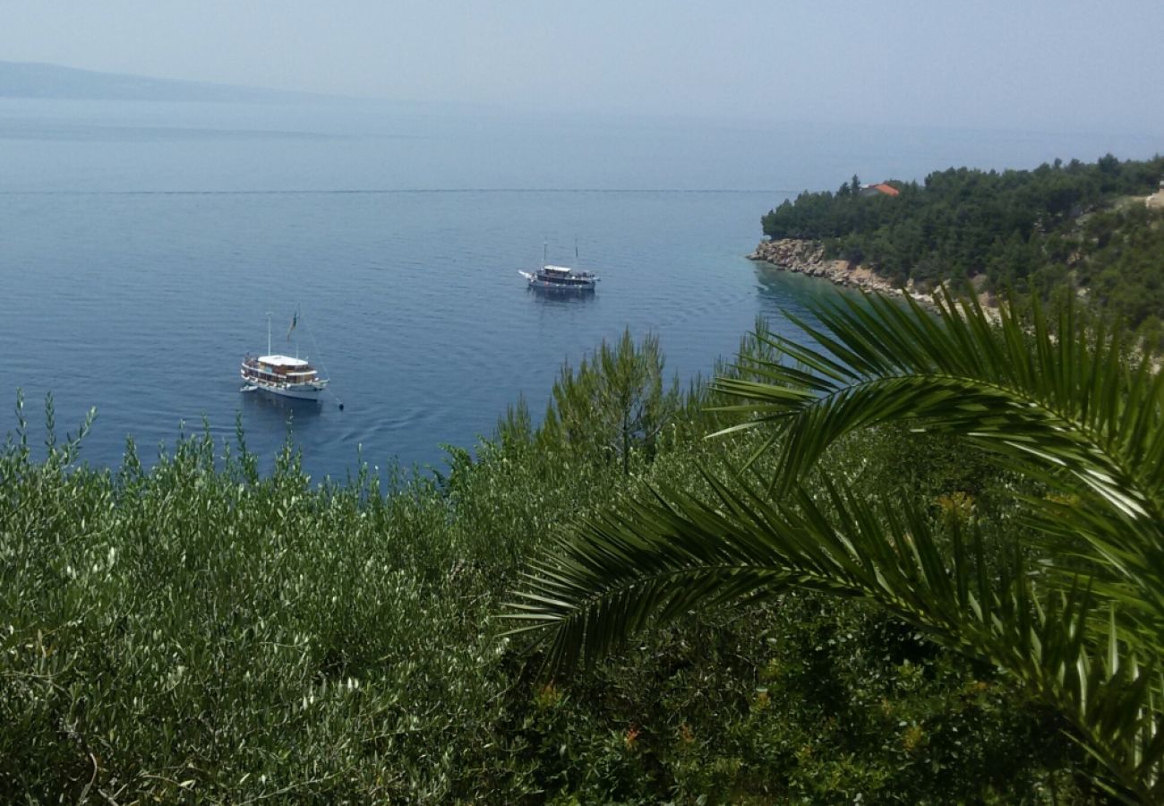
[[[530,565],[514,631],[568,669],[696,607],[790,588],[864,599],[1006,670],[1063,714],[1100,786],[1159,803],[1164,376],[1072,305],[1055,327],[1037,306],[1030,321],[949,296],[938,309],[840,301],[815,311],[821,327],[797,323],[814,347],[760,337],[778,359],[715,383],[740,401],[723,408],[744,418],[729,431],[768,432],[752,460],[704,468],[710,495],[656,488],[558,536]],[[870,501],[818,464],[887,423],[958,434],[1042,485],[1022,501],[1037,537],[988,557],[973,523]]]

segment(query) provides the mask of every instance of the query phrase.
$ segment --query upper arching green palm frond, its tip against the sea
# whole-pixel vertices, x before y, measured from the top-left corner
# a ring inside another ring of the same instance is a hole
[[[746,401],[726,408],[751,423],[779,423],[775,494],[858,429],[908,422],[963,436],[1052,488],[1090,492],[1093,508],[1067,523],[1098,568],[1154,603],[1164,628],[1164,376],[1147,359],[1129,368],[1117,332],[1083,326],[1072,305],[1055,332],[1037,305],[1029,325],[1003,307],[995,326],[977,302],[951,297],[937,316],[883,297],[816,313],[828,332],[804,330],[818,349],[775,346],[799,367],[762,362],[764,382],[715,384]],[[1062,511],[1030,503],[1053,530]]]

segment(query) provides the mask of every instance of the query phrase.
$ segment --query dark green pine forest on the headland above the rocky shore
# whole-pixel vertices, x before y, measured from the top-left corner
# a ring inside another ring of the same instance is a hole
[[[803,192],[762,218],[772,239],[825,243],[833,259],[870,266],[903,287],[977,280],[995,294],[1053,302],[1083,296],[1164,348],[1164,208],[1144,197],[1164,157],[1094,163],[1056,160],[1035,170],[936,171],[889,182],[897,196],[863,193],[858,177]]]

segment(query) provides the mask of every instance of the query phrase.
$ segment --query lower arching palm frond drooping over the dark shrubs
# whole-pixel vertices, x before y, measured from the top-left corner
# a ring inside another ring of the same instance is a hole
[[[1144,704],[1161,683],[1117,604],[1081,582],[1043,601],[1021,553],[987,573],[979,533],[943,538],[909,501],[875,507],[833,485],[822,502],[800,487],[775,501],[740,478],[707,481],[710,503],[666,489],[573,526],[531,566],[511,634],[546,637],[547,665],[563,670],[696,607],[794,587],[858,598],[1009,671],[1072,722],[1120,791],[1158,786],[1164,745]]]

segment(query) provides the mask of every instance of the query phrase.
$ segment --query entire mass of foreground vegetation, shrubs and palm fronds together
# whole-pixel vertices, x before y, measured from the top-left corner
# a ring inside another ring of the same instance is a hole
[[[1158,803],[1164,386],[1066,305],[629,334],[439,473],[17,400],[6,803]]]

